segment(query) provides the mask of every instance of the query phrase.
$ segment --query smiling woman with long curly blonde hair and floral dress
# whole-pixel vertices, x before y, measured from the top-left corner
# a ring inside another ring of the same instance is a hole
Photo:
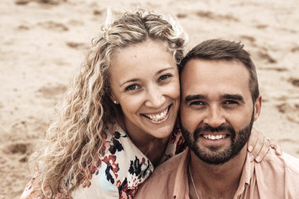
[[[154,166],[185,149],[177,64],[186,34],[169,21],[137,9],[106,22],[48,129],[40,170],[22,199],[132,198]],[[254,155],[268,151],[261,133],[249,143]]]

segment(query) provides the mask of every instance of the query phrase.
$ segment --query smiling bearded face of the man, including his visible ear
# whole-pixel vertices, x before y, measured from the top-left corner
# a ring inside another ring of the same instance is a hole
[[[208,164],[223,164],[247,142],[261,97],[252,102],[249,72],[236,61],[190,60],[181,75],[180,121],[190,149]]]

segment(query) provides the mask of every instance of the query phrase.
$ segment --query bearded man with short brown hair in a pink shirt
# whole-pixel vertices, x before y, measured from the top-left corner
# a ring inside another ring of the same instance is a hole
[[[136,198],[298,199],[298,159],[270,149],[256,163],[246,150],[262,97],[243,45],[204,41],[181,66],[180,121],[190,150],[157,167]]]

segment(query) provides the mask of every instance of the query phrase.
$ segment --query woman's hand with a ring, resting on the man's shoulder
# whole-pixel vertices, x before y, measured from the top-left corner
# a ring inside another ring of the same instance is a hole
[[[270,139],[268,139],[261,131],[252,128],[247,143],[247,150],[251,152],[250,161],[255,160],[256,162],[261,162],[269,151],[269,147],[275,149],[276,155],[282,155],[282,148],[278,143],[270,143]]]

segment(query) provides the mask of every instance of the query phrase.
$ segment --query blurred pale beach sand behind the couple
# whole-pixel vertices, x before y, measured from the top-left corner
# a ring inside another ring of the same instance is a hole
[[[117,16],[136,5],[175,15],[187,50],[210,38],[242,41],[263,96],[255,127],[299,158],[298,0],[1,0],[0,199],[19,199],[30,180],[33,143],[44,138],[107,7]]]

